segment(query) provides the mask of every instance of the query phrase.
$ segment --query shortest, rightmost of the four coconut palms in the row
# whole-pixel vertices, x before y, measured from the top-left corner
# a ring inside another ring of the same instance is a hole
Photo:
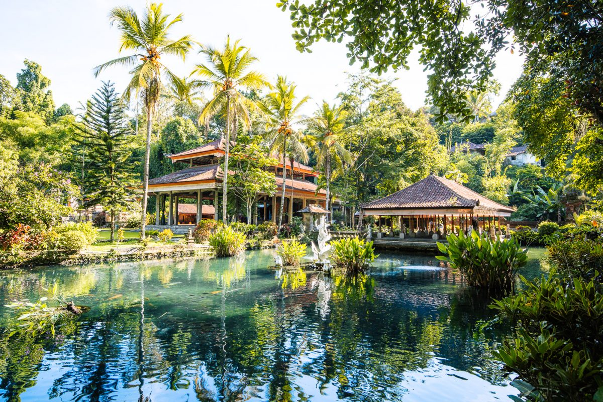
[[[324,169],[327,201],[325,209],[329,209],[330,181],[333,174],[333,163],[339,172],[343,172],[344,163],[352,163],[352,153],[343,146],[344,136],[353,130],[346,127],[347,111],[343,105],[329,106],[326,101],[316,111],[314,117],[306,120],[310,136],[311,149],[317,160],[317,168]]]

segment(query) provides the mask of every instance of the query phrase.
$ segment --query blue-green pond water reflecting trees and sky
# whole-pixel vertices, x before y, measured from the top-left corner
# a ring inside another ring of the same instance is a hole
[[[522,272],[541,271],[541,251]],[[0,335],[0,401],[508,401],[487,298],[434,257],[367,277],[270,269],[274,251],[0,272],[0,306],[59,283],[54,338]],[[0,307],[0,331],[14,313]]]

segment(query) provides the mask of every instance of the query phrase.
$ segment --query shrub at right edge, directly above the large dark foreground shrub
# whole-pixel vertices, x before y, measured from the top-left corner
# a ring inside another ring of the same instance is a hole
[[[557,264],[563,275],[590,278],[603,268],[601,240],[564,239],[546,248],[549,250],[549,259]]]

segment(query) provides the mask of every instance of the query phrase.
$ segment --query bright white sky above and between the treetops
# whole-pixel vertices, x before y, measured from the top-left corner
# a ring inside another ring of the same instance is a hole
[[[57,107],[63,103],[77,107],[98,89],[101,80],[115,82],[121,91],[128,81],[127,69],[113,67],[98,78],[92,71],[120,55],[119,33],[110,26],[107,14],[117,5],[129,5],[142,13],[145,4],[144,0],[2,1],[0,74],[14,85],[25,58],[36,61],[52,81],[50,89]],[[285,75],[297,84],[299,96],[311,96],[302,110],[306,115],[323,99],[335,102],[336,95],[346,89],[346,73],[360,71],[358,63],[349,65],[344,43],[318,42],[311,54],[298,52],[291,38],[289,14],[276,7],[276,0],[165,0],[163,10],[184,14],[183,22],[174,25],[173,37],[191,34],[200,43],[219,47],[229,34],[241,39],[241,44],[259,58],[254,70],[271,81],[277,74]],[[494,98],[494,107],[521,73],[522,58],[517,53],[506,51],[497,57],[494,78],[500,81],[502,90]],[[184,76],[204,58],[195,49],[185,62],[177,58],[162,61]],[[396,78],[403,101],[417,109],[425,104],[428,73],[418,63],[417,54],[411,55],[409,66],[409,70],[390,71],[382,78]]]

